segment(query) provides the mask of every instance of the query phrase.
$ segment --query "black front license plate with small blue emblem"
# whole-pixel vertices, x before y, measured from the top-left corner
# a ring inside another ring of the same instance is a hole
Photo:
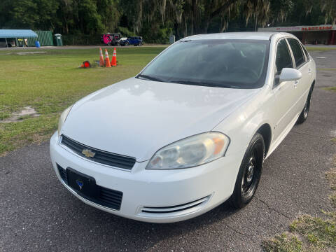
[[[70,167],[66,168],[68,176],[68,184],[79,195],[95,198],[99,194],[99,188],[96,185],[96,180],[92,176],[87,176],[81,172],[77,172]]]

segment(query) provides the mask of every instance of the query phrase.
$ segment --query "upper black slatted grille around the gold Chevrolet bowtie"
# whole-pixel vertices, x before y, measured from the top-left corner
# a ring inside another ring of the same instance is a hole
[[[96,148],[92,148],[89,146],[85,146],[84,144],[80,144],[77,141],[69,139],[69,137],[65,137],[62,135],[61,143],[70,148],[73,152],[77,153],[78,155],[82,156],[83,158],[87,158],[82,151],[88,149],[94,152],[94,157],[87,158],[88,160],[92,160],[94,162],[99,162],[104,165],[110,165],[112,167],[118,167],[123,169],[132,169],[134,166],[136,159],[132,157],[127,157],[124,155],[118,155],[115,153],[108,153],[106,151],[101,151]]]

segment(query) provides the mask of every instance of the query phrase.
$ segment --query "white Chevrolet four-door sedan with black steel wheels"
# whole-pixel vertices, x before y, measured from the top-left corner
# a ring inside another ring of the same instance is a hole
[[[251,201],[262,163],[308,116],[316,66],[286,33],[190,36],[66,109],[57,178],[92,207],[169,223]]]

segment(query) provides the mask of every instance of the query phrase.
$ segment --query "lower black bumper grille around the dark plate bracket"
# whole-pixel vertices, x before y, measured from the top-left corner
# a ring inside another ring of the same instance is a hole
[[[66,174],[66,169],[63,169],[59,165],[57,165],[57,169],[59,172],[59,175],[61,176],[62,181],[68,185],[68,178]],[[69,185],[68,185],[69,186]],[[123,200],[123,192],[112,190],[109,188],[104,188],[102,186],[97,186],[97,190],[99,190],[97,197],[87,197],[80,192],[77,192],[78,195],[85,198],[86,200],[90,200],[90,202],[94,202],[96,204],[99,204],[103,207],[109,207],[113,210],[120,210],[120,205]]]

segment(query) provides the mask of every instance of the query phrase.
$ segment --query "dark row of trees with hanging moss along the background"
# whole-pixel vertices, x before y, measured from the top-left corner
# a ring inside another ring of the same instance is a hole
[[[209,31],[256,30],[268,24],[335,22],[335,0],[0,1],[0,28],[52,30],[83,35],[85,41],[102,32],[124,31],[155,42],[167,41],[173,31],[181,38]]]

